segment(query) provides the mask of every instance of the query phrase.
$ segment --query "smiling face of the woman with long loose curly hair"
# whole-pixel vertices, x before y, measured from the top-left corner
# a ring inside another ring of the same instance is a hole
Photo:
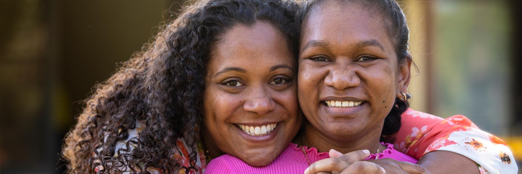
[[[213,45],[204,124],[224,153],[252,166],[271,163],[301,125],[295,59],[272,25],[237,25]]]

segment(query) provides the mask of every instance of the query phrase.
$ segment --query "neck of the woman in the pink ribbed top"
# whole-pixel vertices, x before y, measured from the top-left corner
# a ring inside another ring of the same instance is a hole
[[[298,136],[301,136],[304,146],[315,147],[318,152],[329,152],[330,149],[335,149],[342,154],[347,154],[355,150],[367,149],[371,153],[375,153],[379,148],[384,150],[384,146],[379,143],[382,125],[376,128],[380,129],[372,129],[371,131],[358,133],[350,137],[339,138],[322,134],[321,131],[315,129],[311,124],[306,124],[303,133]],[[299,139],[294,142],[299,143]]]

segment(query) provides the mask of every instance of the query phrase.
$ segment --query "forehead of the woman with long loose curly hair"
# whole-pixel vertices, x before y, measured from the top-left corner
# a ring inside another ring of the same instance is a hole
[[[209,66],[254,66],[287,64],[293,67],[295,60],[286,37],[268,22],[256,22],[253,26],[236,25],[212,44]]]

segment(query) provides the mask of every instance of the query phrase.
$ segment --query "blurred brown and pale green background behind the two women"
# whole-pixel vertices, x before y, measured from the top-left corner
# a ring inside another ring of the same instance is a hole
[[[412,108],[463,114],[522,161],[522,3],[400,1],[420,68]],[[175,0],[0,0],[0,173],[63,173],[91,87],[157,33]]]

